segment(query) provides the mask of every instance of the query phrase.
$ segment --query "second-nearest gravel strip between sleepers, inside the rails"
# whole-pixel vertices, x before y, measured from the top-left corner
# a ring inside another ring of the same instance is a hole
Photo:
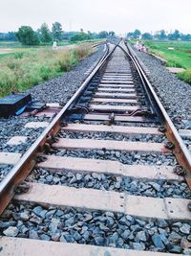
[[[140,170],[141,171],[141,170]],[[74,188],[91,188],[104,191],[125,192],[128,195],[151,198],[190,198],[191,192],[185,182],[146,181],[137,178],[105,174],[81,174],[59,171],[53,173],[45,169],[32,171],[27,179],[42,184],[63,185]]]

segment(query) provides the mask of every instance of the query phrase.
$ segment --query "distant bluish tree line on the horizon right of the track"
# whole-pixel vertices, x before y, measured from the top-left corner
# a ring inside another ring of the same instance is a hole
[[[164,30],[160,30],[159,32],[152,35],[151,33],[141,33],[139,30],[135,30],[134,32],[127,33],[127,37],[138,39],[142,38],[144,40],[182,40],[182,41],[191,41],[191,35],[190,34],[183,34],[180,33],[180,31],[175,30],[171,33],[166,33]]]

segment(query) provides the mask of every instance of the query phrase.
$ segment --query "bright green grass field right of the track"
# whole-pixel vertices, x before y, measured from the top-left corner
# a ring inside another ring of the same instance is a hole
[[[182,41],[146,41],[149,52],[168,61],[169,67],[182,67],[185,71],[178,74],[180,80],[191,84],[191,42]],[[169,50],[173,47],[174,50]]]

